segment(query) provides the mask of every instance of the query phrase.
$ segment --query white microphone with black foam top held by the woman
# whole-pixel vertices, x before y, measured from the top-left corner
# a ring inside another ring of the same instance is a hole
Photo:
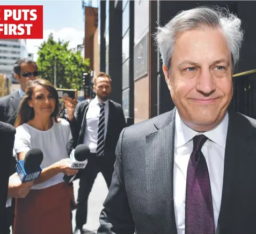
[[[71,161],[71,166],[70,168],[72,169],[84,169],[87,165],[87,158],[90,155],[90,149],[86,145],[78,145],[76,149],[73,149],[72,152],[70,153],[70,161]],[[67,183],[71,183],[76,175],[74,176],[63,176],[63,180]]]

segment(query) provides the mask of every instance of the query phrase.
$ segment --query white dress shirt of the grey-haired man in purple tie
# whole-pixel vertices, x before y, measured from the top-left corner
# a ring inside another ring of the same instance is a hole
[[[215,129],[204,132],[208,140],[202,147],[202,153],[210,176],[211,195],[213,198],[214,224],[217,228],[218,215],[221,207],[224,155],[226,133],[228,132],[228,113]],[[193,150],[193,137],[201,134],[189,128],[180,118],[178,111],[175,115],[175,138],[174,138],[174,212],[178,234],[185,234],[185,201],[186,201],[186,178],[189,157]]]

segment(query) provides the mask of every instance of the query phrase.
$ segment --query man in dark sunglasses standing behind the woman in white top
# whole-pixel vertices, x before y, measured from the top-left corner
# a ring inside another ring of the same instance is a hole
[[[20,100],[25,94],[28,81],[38,77],[38,65],[30,58],[19,59],[13,67],[14,76],[20,83],[20,89],[16,92],[0,98],[0,121],[14,125],[18,114]],[[13,157],[10,176],[15,172],[16,160]],[[4,233],[10,233],[10,227],[13,228],[14,219],[14,199],[12,206],[6,208],[6,230]]]

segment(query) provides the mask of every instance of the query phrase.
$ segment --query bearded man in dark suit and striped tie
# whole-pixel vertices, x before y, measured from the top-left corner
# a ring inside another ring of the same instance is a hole
[[[108,187],[111,184],[115,147],[122,129],[126,127],[121,105],[109,100],[111,78],[100,72],[93,84],[96,97],[90,102],[78,103],[75,116],[75,101],[63,97],[75,145],[85,144],[91,152],[86,168],[79,172],[75,233],[85,233],[83,225],[87,220],[87,200],[98,172],[103,174]]]

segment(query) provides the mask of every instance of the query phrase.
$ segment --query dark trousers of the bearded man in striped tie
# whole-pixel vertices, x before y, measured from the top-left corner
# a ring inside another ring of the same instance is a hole
[[[90,154],[85,169],[79,171],[80,181],[76,210],[76,226],[79,229],[82,229],[87,221],[88,197],[99,172],[103,174],[109,188],[114,172],[114,159],[109,159],[106,155],[98,157],[96,154]]]

